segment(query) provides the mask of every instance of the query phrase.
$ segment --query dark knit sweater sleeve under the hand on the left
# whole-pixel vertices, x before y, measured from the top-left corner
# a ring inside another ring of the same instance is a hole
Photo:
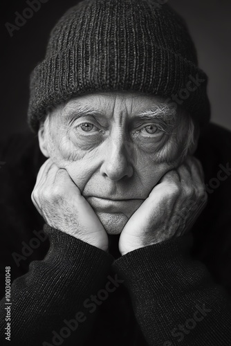
[[[44,230],[50,237],[46,257],[12,283],[10,305],[1,300],[1,345],[82,345],[93,322],[89,298],[102,288],[113,257],[48,225]]]

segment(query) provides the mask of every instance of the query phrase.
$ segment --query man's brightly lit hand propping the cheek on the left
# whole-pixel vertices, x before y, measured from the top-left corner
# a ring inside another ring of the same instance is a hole
[[[108,237],[68,172],[50,158],[41,166],[31,199],[46,223],[104,251]]]

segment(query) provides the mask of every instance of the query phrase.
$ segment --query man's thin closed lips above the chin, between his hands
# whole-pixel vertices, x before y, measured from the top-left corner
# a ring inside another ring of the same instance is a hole
[[[144,199],[111,199],[105,197],[85,197],[98,212],[130,212],[141,206]]]

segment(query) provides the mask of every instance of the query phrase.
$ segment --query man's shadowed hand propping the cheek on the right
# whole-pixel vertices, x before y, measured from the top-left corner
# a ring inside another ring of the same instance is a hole
[[[189,231],[206,205],[201,163],[188,156],[175,170],[167,172],[120,235],[122,255],[157,244]]]

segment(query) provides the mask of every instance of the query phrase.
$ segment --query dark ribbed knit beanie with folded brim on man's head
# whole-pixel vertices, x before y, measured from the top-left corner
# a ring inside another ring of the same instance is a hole
[[[68,10],[31,74],[31,129],[38,130],[49,107],[97,91],[160,95],[207,122],[207,76],[185,22],[160,2],[84,0]]]

